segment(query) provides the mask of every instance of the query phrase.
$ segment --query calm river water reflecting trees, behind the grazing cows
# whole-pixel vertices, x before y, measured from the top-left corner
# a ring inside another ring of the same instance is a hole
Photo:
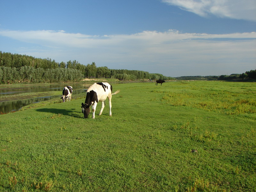
[[[118,82],[113,82],[111,84],[117,84]],[[69,86],[73,87],[73,95],[86,92],[86,90],[91,86],[93,83],[76,83],[76,84],[68,84]],[[8,96],[8,95],[17,95],[20,93],[29,93],[29,92],[48,92],[48,91],[58,91],[60,95],[55,96],[46,96],[46,97],[36,97],[36,98],[28,98],[28,96],[24,97],[13,97],[13,100],[9,101],[0,101],[0,114],[10,113],[19,110],[20,108],[32,104],[37,103],[45,100],[50,100],[53,98],[60,98],[62,95],[62,90],[67,84],[50,84],[50,85],[24,85],[22,87],[11,87],[11,88],[1,88],[0,85],[0,96]],[[84,97],[86,94],[84,94]],[[71,99],[72,100],[72,99]]]

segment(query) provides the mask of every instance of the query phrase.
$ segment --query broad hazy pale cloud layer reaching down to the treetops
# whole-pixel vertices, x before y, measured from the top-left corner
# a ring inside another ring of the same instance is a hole
[[[0,36],[26,43],[13,53],[49,57],[57,62],[96,62],[98,67],[137,69],[166,76],[242,73],[256,64],[255,32],[196,34],[169,30],[89,36],[42,30],[0,31]]]

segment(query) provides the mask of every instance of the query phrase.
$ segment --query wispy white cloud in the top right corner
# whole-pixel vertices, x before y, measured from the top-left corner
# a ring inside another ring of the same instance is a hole
[[[217,17],[256,21],[255,0],[162,0],[162,2],[203,17],[213,14]]]

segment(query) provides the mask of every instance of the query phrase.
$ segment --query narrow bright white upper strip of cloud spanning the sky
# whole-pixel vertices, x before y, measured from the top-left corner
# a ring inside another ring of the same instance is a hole
[[[99,45],[118,46],[121,44],[140,44],[152,45],[162,44],[167,41],[180,41],[191,39],[254,39],[255,32],[250,33],[232,33],[232,34],[206,34],[206,33],[180,33],[178,30],[168,30],[165,32],[142,31],[141,33],[131,35],[104,35],[90,36],[80,33],[66,33],[65,31],[0,31],[1,36],[10,37],[26,43],[40,44],[43,46],[69,46],[69,47],[95,47]]]

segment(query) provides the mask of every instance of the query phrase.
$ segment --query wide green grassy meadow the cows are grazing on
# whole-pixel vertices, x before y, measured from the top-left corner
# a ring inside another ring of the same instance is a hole
[[[1,115],[0,191],[256,191],[256,83],[116,90],[111,117],[85,93]]]

